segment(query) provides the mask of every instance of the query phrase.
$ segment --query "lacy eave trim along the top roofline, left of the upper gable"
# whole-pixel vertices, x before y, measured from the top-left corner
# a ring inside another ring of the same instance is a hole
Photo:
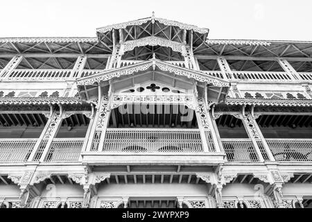
[[[1,37],[0,43],[6,42],[24,42],[24,43],[39,43],[39,42],[98,42],[97,37]]]

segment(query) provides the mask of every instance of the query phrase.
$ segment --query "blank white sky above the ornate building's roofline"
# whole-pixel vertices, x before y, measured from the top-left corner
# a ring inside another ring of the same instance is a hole
[[[209,38],[312,40],[311,0],[1,0],[0,37],[95,37],[149,17],[209,28]]]

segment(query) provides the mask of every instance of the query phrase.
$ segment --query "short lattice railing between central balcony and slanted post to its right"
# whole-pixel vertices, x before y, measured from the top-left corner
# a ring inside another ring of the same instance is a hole
[[[250,139],[221,139],[227,161],[257,162],[259,157]]]

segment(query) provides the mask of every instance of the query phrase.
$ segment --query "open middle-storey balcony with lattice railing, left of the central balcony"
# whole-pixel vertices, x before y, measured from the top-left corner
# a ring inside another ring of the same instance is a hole
[[[15,163],[78,162],[89,124],[82,114],[74,114],[63,120],[58,133],[48,143],[48,139],[40,142],[39,138],[47,122],[43,114],[2,114],[0,120],[7,123],[0,132],[0,162]]]

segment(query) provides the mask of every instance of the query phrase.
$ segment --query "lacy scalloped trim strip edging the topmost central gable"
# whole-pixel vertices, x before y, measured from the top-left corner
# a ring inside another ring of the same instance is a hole
[[[159,22],[162,23],[166,26],[177,26],[181,29],[186,29],[186,30],[193,30],[196,33],[201,33],[201,34],[205,34],[205,33],[209,33],[209,29],[208,28],[198,28],[197,26],[193,26],[193,25],[189,25],[189,24],[184,24],[181,22],[175,22],[173,20],[169,20],[169,19],[162,19],[162,18],[156,18],[156,17],[148,17],[146,19],[138,19],[138,20],[133,20],[130,22],[123,22],[123,23],[119,23],[119,24],[113,24],[110,26],[104,26],[101,28],[96,28],[96,31],[98,33],[106,33],[108,31],[112,31],[112,29],[119,29],[119,28],[126,28],[127,26],[140,26],[141,24],[144,24],[148,21],[152,21],[152,22]]]

